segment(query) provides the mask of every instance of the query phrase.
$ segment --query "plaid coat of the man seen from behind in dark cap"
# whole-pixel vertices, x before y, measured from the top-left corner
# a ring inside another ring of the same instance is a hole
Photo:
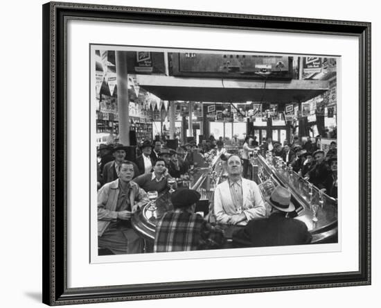
[[[223,231],[212,227],[199,214],[184,209],[167,212],[156,225],[154,252],[220,248]]]

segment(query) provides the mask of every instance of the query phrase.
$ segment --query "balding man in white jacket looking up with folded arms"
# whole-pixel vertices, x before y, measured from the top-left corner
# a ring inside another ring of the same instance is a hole
[[[251,219],[265,217],[266,209],[256,182],[242,178],[240,157],[227,160],[228,179],[214,193],[214,214],[218,223],[246,225]]]

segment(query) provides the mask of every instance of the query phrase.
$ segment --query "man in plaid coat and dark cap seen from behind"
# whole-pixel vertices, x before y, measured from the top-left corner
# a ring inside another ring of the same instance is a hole
[[[154,252],[188,251],[220,248],[224,233],[195,214],[200,194],[193,189],[177,189],[170,199],[173,211],[158,221],[154,237]]]

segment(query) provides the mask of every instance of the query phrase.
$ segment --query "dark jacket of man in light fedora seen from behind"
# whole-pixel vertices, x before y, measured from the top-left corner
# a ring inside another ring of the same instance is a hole
[[[249,221],[245,228],[233,232],[233,243],[243,247],[303,245],[311,239],[303,221],[287,219],[279,212],[268,219]]]

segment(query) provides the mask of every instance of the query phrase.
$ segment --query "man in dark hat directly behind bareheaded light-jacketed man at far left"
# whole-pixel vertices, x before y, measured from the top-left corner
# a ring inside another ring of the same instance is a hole
[[[103,185],[118,179],[118,166],[120,166],[121,163],[125,160],[126,151],[127,146],[123,146],[123,144],[116,144],[114,146],[112,149],[114,160],[112,162],[107,162],[107,164],[105,164],[103,167]],[[132,162],[132,165],[134,166],[134,177],[139,176],[140,172],[138,166],[136,166],[134,162]]]

